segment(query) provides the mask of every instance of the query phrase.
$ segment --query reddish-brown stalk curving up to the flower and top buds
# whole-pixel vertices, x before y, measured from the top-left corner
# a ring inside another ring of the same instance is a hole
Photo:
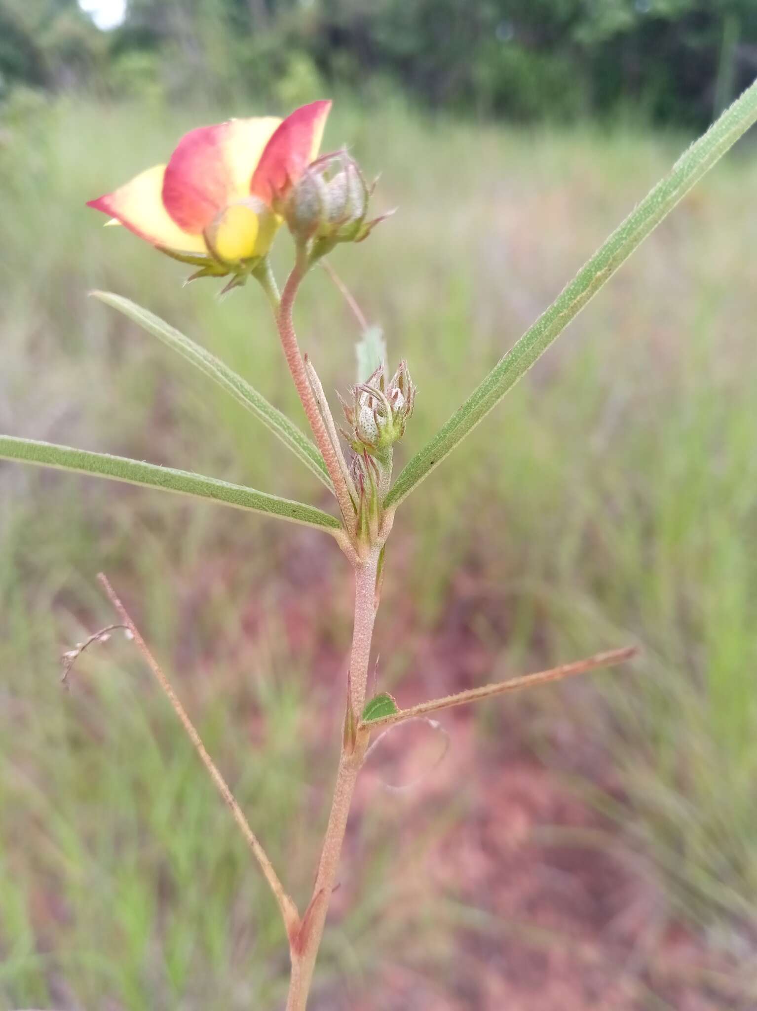
[[[337,456],[338,452],[341,451],[339,448],[334,447],[332,440],[328,438],[323,419],[320,417],[318,403],[310,386],[310,380],[307,377],[307,370],[300,354],[297,335],[295,334],[294,323],[292,320],[292,306],[306,269],[306,258],[298,252],[297,260],[284,286],[281,304],[276,313],[276,325],[279,337],[281,338],[281,345],[284,349],[284,357],[292,374],[295,388],[302,401],[302,406],[312,429],[312,434],[315,437],[315,442],[328,469],[328,475],[334,484],[334,493],[342,511],[342,517],[348,531],[352,533],[355,528],[355,510],[347,484],[345,483],[339,457]]]

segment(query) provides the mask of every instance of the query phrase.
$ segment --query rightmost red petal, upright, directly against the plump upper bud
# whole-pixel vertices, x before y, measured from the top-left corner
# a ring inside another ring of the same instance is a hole
[[[270,207],[283,199],[318,154],[330,101],[295,109],[266,145],[253,175],[250,192]]]

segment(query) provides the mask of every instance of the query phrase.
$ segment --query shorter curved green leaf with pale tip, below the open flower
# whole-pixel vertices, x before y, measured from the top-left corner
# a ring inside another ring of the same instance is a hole
[[[155,313],[143,308],[128,298],[123,298],[121,295],[114,295],[110,291],[92,291],[90,294],[98,298],[101,302],[105,302],[106,305],[118,309],[119,312],[128,316],[129,319],[133,319],[135,324],[138,324],[148,333],[153,334],[159,341],[163,341],[169,348],[177,351],[182,358],[185,358],[201,372],[204,372],[206,376],[209,376],[226,390],[227,393],[230,393],[238,403],[241,403],[243,407],[247,407],[251,413],[263,422],[274,435],[277,435],[289,447],[295,456],[299,457],[306,467],[309,467],[329,490],[332,489],[332,479],[328,476],[328,470],[317,447],[300,432],[297,426],[286,415],[282,413],[277,407],[274,407],[272,403],[269,403],[262,393],[259,393],[241,375],[238,375],[233,369],[229,369],[219,358],[211,355],[201,345],[195,344],[194,341],[185,337],[175,327],[167,324],[160,316],[155,315]]]

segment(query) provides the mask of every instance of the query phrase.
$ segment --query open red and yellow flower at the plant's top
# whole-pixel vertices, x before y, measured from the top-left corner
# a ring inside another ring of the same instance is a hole
[[[190,130],[168,165],[88,206],[200,267],[195,277],[245,275],[268,253],[292,187],[318,154],[330,107],[317,101],[283,120],[229,119]]]

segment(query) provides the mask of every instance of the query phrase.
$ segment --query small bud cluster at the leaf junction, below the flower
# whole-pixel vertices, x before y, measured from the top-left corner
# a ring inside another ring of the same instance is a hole
[[[415,400],[415,386],[405,362],[400,363],[388,385],[381,365],[351,392],[352,403],[341,399],[349,426],[344,435],[356,453],[375,456],[402,438]]]

